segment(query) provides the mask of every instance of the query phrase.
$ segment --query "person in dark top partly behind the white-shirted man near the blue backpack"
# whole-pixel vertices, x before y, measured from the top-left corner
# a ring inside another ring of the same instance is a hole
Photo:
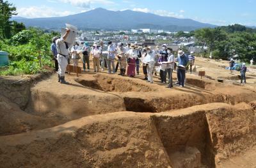
[[[161,64],[161,62],[166,62],[167,57],[168,57],[166,44],[162,45],[162,50],[160,52],[160,55],[161,56],[159,56],[159,59],[158,59],[159,64]],[[161,70],[160,70],[161,83],[166,83],[166,71],[164,69],[165,66],[166,65],[164,65],[164,64],[160,65],[160,67],[161,67]]]

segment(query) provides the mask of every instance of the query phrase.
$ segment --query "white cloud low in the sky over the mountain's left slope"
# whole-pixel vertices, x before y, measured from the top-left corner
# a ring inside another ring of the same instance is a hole
[[[40,17],[63,17],[74,14],[72,11],[56,11],[48,6],[30,6],[28,8],[18,8],[19,17],[40,18]]]

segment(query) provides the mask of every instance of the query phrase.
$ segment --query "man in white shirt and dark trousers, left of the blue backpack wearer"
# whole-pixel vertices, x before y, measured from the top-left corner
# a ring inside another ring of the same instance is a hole
[[[166,65],[166,73],[168,76],[167,88],[172,88],[173,87],[172,72],[174,69],[175,58],[174,58],[174,55],[172,54],[172,48],[167,48],[167,53],[168,53],[167,62],[163,62],[163,64],[167,64]]]

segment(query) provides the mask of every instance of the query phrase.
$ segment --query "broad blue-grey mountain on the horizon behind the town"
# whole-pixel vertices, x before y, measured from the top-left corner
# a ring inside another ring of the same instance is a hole
[[[166,31],[193,31],[203,27],[216,27],[216,25],[204,24],[188,18],[161,17],[152,13],[140,11],[109,11],[103,8],[69,15],[67,17],[51,18],[17,18],[17,22],[23,22],[27,27],[41,27],[43,29],[60,29],[65,23],[76,25],[79,29],[164,29]]]

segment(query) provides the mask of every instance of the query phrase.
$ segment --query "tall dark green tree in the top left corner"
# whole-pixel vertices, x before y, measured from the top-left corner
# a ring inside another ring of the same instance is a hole
[[[16,8],[12,6],[12,3],[8,1],[0,0],[0,36],[2,38],[10,38],[12,36],[12,18],[15,13]]]

